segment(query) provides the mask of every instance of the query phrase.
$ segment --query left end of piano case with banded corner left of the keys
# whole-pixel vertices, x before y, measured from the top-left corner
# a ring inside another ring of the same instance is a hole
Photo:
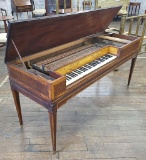
[[[8,65],[9,78],[13,83],[18,84],[23,89],[27,89],[37,97],[53,100],[61,96],[66,90],[65,77],[58,78],[53,82],[42,77],[21,70],[14,65]]]

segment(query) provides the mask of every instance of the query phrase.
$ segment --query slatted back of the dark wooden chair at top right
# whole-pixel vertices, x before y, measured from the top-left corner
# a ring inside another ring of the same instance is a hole
[[[140,5],[140,2],[130,2],[128,16],[139,14]]]

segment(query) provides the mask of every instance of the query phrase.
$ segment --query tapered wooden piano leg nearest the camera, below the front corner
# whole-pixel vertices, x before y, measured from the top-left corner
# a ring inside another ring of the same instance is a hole
[[[50,129],[52,138],[53,153],[56,152],[56,125],[57,125],[57,111],[49,112]]]

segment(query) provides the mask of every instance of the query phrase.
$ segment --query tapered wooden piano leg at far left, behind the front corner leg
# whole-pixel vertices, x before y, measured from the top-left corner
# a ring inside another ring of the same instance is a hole
[[[17,114],[18,114],[18,118],[19,118],[19,122],[20,125],[23,125],[23,120],[22,120],[22,114],[21,114],[21,106],[20,106],[20,99],[19,99],[19,92],[12,89],[12,94],[13,94],[13,98],[14,98],[14,102],[15,102],[15,106],[16,106],[16,110],[17,110]]]

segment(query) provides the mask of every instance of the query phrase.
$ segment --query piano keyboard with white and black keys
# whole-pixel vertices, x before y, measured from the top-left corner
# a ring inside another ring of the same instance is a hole
[[[66,74],[66,85],[68,86],[69,84],[77,81],[78,79],[86,76],[87,74],[93,72],[94,70],[102,67],[103,65],[111,62],[114,60],[117,56],[107,54],[104,55],[68,74]]]

